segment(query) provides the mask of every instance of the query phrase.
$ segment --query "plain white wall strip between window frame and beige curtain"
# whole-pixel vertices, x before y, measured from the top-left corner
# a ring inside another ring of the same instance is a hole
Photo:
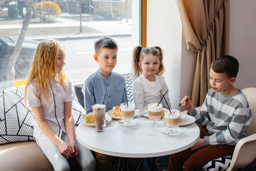
[[[175,1],[148,0],[147,46],[163,48],[165,81],[170,103],[177,108],[180,102],[181,21]]]

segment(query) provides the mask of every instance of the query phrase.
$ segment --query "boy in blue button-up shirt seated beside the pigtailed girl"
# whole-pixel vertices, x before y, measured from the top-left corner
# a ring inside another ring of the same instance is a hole
[[[118,44],[112,38],[104,37],[94,44],[94,60],[99,69],[89,76],[83,84],[84,106],[91,113],[92,105],[103,103],[106,112],[114,106],[126,102],[126,82],[123,76],[113,72],[116,66]],[[96,152],[97,170],[113,170],[112,157]]]

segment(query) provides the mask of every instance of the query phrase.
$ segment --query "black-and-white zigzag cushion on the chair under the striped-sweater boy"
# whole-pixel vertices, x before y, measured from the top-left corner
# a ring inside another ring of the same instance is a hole
[[[207,171],[227,170],[227,168],[230,167],[231,160],[232,160],[231,155],[217,158],[215,160],[208,162],[206,165],[204,165],[203,170],[207,170]]]

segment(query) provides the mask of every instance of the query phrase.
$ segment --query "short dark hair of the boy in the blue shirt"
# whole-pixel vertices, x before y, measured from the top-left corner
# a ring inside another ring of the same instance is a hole
[[[116,43],[113,38],[103,37],[94,43],[95,53],[97,53],[100,48],[116,49],[118,48],[118,43]]]

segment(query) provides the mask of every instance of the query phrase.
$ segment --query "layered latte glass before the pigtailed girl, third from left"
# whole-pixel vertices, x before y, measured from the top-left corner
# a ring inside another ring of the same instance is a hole
[[[157,125],[156,120],[160,120],[161,118],[161,112],[163,109],[163,105],[158,103],[150,103],[148,104],[148,116],[150,120],[153,120],[152,123],[150,123],[150,126]]]

